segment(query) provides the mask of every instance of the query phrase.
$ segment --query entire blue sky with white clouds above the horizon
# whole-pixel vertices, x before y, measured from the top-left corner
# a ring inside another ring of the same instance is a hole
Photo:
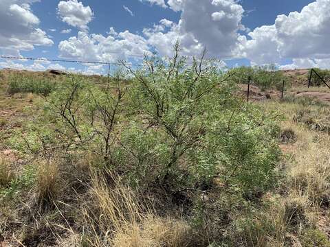
[[[0,55],[140,62],[150,51],[170,56],[179,39],[184,55],[206,47],[229,67],[328,68],[329,9],[330,0],[1,0]],[[5,59],[0,67],[105,71]]]

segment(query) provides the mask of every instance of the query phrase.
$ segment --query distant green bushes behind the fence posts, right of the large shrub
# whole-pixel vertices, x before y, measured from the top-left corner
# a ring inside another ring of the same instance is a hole
[[[282,71],[278,71],[274,65],[263,67],[239,67],[230,70],[234,73],[231,80],[235,83],[248,84],[248,78],[251,77],[251,84],[259,86],[262,91],[267,89],[282,90],[283,80],[285,80],[286,88],[289,81],[283,75]]]

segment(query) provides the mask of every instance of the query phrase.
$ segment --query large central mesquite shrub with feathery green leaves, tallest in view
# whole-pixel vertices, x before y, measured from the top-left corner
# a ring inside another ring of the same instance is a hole
[[[204,53],[190,64],[177,45],[173,58],[151,56],[144,64],[128,68],[138,114],[117,153],[131,164],[133,180],[171,188],[210,185],[217,176],[245,192],[270,187],[279,156],[276,115],[244,106],[232,95],[230,75]]]

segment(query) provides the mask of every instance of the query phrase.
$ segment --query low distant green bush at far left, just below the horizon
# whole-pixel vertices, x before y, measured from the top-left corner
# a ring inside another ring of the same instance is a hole
[[[9,79],[8,93],[37,93],[47,96],[56,88],[56,81],[47,78],[14,74]]]

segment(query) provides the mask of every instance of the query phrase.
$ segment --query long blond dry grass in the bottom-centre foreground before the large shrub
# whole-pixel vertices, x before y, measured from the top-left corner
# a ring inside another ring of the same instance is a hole
[[[153,215],[137,193],[109,174],[92,172],[90,202],[83,207],[85,242],[90,246],[191,246],[191,229],[181,220]]]

